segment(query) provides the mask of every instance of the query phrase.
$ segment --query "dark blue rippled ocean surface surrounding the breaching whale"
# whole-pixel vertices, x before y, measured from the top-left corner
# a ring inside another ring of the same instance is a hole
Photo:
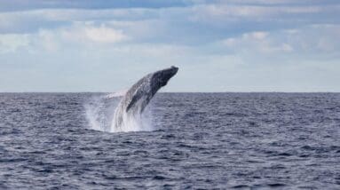
[[[0,93],[0,189],[340,189],[339,93],[158,93],[115,133],[103,96]]]

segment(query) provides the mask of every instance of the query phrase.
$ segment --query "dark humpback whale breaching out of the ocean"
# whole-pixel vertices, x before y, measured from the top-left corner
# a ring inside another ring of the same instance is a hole
[[[154,97],[154,94],[162,86],[165,86],[177,72],[178,67],[172,66],[150,73],[133,84],[119,102],[118,107],[115,108],[112,130],[129,131],[126,129],[129,122],[143,113],[147,104]]]

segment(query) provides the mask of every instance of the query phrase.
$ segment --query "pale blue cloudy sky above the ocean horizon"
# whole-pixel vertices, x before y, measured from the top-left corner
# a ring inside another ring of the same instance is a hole
[[[1,0],[0,91],[340,91],[338,0]]]

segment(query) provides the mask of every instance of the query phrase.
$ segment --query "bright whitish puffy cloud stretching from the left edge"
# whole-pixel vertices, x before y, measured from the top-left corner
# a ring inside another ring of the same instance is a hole
[[[39,29],[31,34],[0,35],[0,53],[14,52],[20,48],[28,51],[58,51],[68,45],[80,48],[83,45],[116,44],[129,39],[120,29],[76,22],[71,27]]]

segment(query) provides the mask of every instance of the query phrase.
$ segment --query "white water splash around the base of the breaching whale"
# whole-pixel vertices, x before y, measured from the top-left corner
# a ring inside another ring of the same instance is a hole
[[[115,94],[115,93],[113,93]],[[129,131],[153,131],[151,123],[151,111],[146,108],[142,115],[123,115],[124,123],[120,129],[113,126],[115,108],[121,96],[114,97],[113,94],[99,96],[90,99],[85,105],[85,114],[90,129],[107,132],[129,132]]]

